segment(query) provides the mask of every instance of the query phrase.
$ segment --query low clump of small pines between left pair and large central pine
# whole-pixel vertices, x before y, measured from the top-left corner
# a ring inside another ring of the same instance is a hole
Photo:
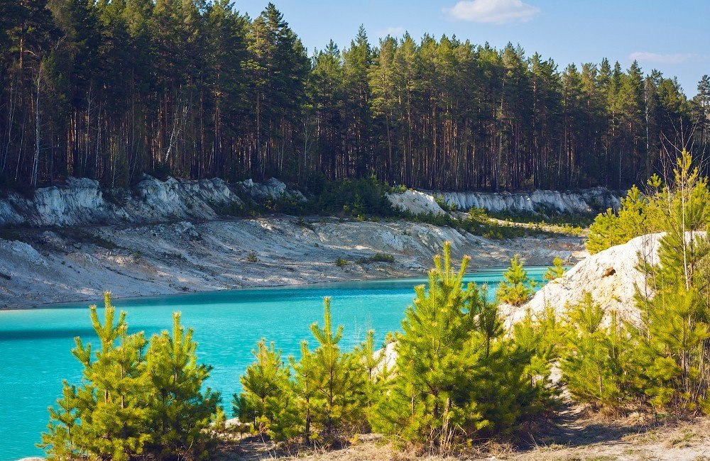
[[[368,408],[382,390],[375,372],[382,358],[374,353],[373,333],[353,352],[342,352],[343,328],[332,326],[329,299],[323,319],[322,327],[311,326],[317,348],[302,342],[299,360],[289,357],[287,365],[266,340],[253,351],[256,361],[241,377],[244,391],[234,396],[234,412],[253,424],[253,433],[331,445],[367,430]]]

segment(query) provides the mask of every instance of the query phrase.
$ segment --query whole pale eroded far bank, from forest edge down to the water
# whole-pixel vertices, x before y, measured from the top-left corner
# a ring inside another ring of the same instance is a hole
[[[445,240],[456,257],[473,256],[471,267],[505,265],[515,253],[532,265],[586,255],[574,237],[500,241],[408,221],[224,218],[245,202],[284,195],[305,201],[276,179],[226,184],[145,177],[131,190],[102,191],[95,181],[70,178],[31,197],[6,194],[0,199],[0,308],[97,299],[104,289],[143,296],[423,275]],[[413,213],[444,213],[427,192],[393,194],[391,201]],[[365,261],[376,252],[394,262]],[[350,263],[339,267],[338,258]]]

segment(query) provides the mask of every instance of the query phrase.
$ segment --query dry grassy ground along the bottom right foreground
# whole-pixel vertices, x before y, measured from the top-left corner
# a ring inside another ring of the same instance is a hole
[[[642,418],[643,419],[643,418]],[[362,435],[341,450],[276,448],[254,438],[222,445],[219,461],[710,461],[710,420],[650,427],[638,415],[608,416],[570,410],[549,431],[530,437],[528,446],[487,443],[457,457],[396,450],[381,435]]]

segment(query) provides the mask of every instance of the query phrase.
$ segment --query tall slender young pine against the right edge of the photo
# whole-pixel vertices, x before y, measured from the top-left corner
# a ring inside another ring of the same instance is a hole
[[[710,317],[701,290],[710,255],[710,193],[686,151],[677,159],[669,194],[657,265],[640,264],[655,291],[638,294],[643,389],[656,411],[708,412]]]

